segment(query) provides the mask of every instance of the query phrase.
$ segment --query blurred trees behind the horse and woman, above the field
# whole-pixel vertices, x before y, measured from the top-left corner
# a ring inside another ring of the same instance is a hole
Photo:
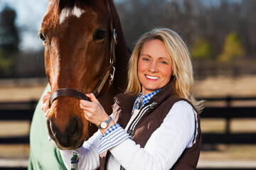
[[[186,41],[196,72],[223,74],[229,68],[256,74],[255,0],[114,0],[114,4],[130,50],[146,31],[167,27]],[[0,17],[0,77],[44,77],[43,50],[18,49],[22,29],[15,25],[14,9],[6,6]]]

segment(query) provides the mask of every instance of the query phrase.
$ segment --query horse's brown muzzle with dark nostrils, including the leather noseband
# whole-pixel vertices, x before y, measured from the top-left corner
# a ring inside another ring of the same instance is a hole
[[[48,134],[60,149],[77,149],[86,137],[87,120],[80,115],[79,101],[74,98],[90,101],[75,89],[58,89],[50,95],[51,111],[46,121]]]

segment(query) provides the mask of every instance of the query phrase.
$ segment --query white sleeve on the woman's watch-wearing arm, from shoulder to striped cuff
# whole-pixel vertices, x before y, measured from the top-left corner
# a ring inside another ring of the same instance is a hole
[[[186,101],[178,101],[166,115],[161,126],[151,135],[144,148],[127,139],[112,147],[110,152],[127,170],[171,169],[183,150],[193,145],[194,134],[193,108]]]

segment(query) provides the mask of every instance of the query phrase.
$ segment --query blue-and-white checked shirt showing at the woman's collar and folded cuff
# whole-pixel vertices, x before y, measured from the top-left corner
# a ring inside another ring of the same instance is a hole
[[[149,100],[157,94],[161,89],[152,92],[151,94],[146,94],[142,96],[142,93],[137,96],[134,106],[132,108],[132,113],[134,109],[140,109],[142,108],[146,103],[149,102]],[[119,145],[121,142],[127,139],[132,139],[127,132],[120,127],[118,123],[112,125],[107,132],[105,132],[104,135],[102,135],[102,138],[100,139],[100,143],[97,145],[97,152],[101,154],[102,152],[105,152],[106,150]]]

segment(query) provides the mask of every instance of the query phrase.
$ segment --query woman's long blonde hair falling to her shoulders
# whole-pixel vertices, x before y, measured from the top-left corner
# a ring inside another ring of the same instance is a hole
[[[168,28],[151,30],[139,38],[129,60],[128,85],[125,92],[127,94],[139,95],[142,91],[142,84],[138,77],[138,59],[144,43],[149,40],[161,40],[169,52],[173,74],[175,75],[175,78],[171,79],[174,85],[174,95],[186,98],[195,106],[198,113],[201,113],[203,101],[196,101],[192,94],[193,67],[191,55],[181,37],[174,30]]]

